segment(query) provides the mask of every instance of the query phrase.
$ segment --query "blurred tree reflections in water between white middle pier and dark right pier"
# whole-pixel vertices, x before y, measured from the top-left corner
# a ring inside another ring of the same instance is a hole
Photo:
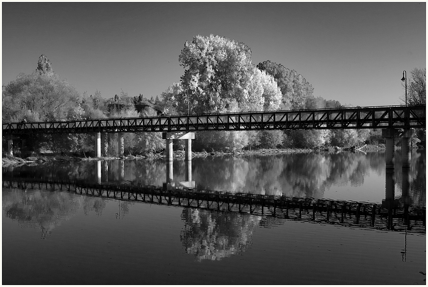
[[[198,189],[322,198],[332,185],[362,185],[381,157],[368,160],[361,152],[293,153],[213,158],[208,165],[195,159],[194,178]]]

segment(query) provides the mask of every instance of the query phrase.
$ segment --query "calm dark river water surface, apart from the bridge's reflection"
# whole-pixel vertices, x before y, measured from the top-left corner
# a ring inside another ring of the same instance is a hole
[[[403,194],[426,204],[425,151]],[[54,162],[4,177],[84,179],[382,203],[383,153]],[[2,189],[2,284],[426,284],[426,235],[233,212]],[[422,273],[421,273],[422,272]]]

